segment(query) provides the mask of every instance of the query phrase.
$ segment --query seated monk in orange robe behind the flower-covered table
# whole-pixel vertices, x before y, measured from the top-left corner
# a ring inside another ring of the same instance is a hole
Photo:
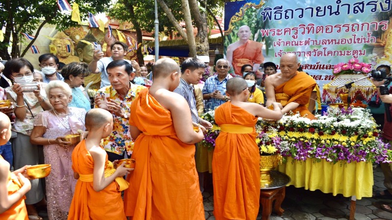
[[[280,58],[281,72],[270,75],[265,81],[266,106],[270,106],[272,102],[280,102],[283,106],[283,114],[293,111],[299,112],[301,116],[315,119],[306,104],[316,86],[316,81],[305,72],[298,72],[299,66],[300,63],[294,53],[287,53]]]

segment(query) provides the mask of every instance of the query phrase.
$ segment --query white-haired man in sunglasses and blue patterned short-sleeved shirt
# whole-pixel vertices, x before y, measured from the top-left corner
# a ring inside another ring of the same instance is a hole
[[[203,99],[206,100],[204,107],[206,110],[214,110],[229,100],[229,97],[226,96],[226,83],[232,78],[228,74],[229,63],[225,59],[219,59],[215,68],[217,74],[208,77],[202,90]]]

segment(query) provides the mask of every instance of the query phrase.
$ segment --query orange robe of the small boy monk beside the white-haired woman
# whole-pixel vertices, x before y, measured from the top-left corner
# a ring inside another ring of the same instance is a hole
[[[111,168],[105,159],[105,171]],[[94,160],[86,149],[86,141],[81,141],[72,152],[72,169],[82,175],[94,174]],[[76,182],[68,220],[126,220],[123,199],[115,181],[103,190],[96,192],[93,181]]]

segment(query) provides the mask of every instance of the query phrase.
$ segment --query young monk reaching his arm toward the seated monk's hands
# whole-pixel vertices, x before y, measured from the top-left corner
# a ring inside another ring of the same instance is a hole
[[[226,84],[226,102],[215,110],[221,127],[212,159],[214,216],[217,220],[255,220],[259,212],[260,153],[256,144],[258,117],[282,118],[279,103],[269,110],[246,102],[249,89],[244,79],[235,77]]]

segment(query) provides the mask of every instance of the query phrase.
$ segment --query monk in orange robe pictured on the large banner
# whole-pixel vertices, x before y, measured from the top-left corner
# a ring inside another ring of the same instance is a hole
[[[237,33],[239,40],[227,47],[227,61],[233,66],[234,72],[240,76],[243,76],[241,67],[245,64],[253,66],[253,71],[256,72],[264,62],[261,51],[263,44],[249,40],[250,34],[249,26],[241,26]]]

